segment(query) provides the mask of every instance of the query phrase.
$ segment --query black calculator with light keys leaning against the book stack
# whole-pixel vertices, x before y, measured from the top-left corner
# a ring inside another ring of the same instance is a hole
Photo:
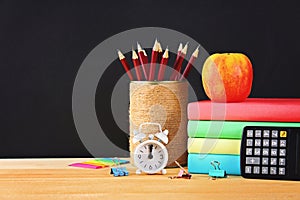
[[[244,178],[300,180],[300,128],[246,126],[240,165]]]

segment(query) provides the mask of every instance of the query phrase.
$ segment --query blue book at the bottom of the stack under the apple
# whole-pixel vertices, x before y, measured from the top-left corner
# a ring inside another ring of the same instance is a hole
[[[240,156],[229,154],[194,154],[188,155],[188,171],[195,174],[208,174],[209,170],[214,169],[211,161],[218,161],[220,169],[227,174],[241,175]]]

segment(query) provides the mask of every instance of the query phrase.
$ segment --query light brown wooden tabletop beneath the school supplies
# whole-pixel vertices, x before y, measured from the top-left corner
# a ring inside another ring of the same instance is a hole
[[[130,164],[129,176],[113,177],[110,168],[68,166],[86,160],[91,159],[1,159],[0,199],[300,199],[297,181],[211,180],[200,174],[169,179],[178,168],[166,175],[136,175]]]

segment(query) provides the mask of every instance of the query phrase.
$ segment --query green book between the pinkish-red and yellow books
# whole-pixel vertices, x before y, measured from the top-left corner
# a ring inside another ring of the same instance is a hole
[[[300,127],[299,122],[189,121],[188,136],[192,138],[241,139],[245,126]]]

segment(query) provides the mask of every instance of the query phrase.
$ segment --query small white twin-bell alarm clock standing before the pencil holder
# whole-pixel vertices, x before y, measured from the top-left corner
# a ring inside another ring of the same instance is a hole
[[[157,125],[159,132],[156,134],[149,134],[148,139],[146,134],[141,132],[144,125]],[[168,163],[168,151],[166,146],[168,144],[168,130],[161,130],[161,125],[158,123],[146,122],[140,125],[139,131],[134,131],[133,143],[140,142],[134,150],[133,160],[135,166],[138,168],[136,174],[145,172],[147,174],[155,174],[161,172],[166,174],[164,169]],[[157,138],[155,140],[154,138]],[[162,143],[163,142],[163,143]]]

